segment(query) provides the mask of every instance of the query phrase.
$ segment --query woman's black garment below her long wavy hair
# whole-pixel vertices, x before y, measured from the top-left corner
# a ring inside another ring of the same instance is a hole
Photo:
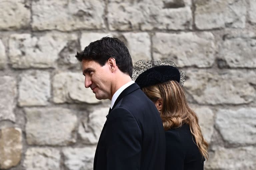
[[[165,131],[166,170],[203,170],[204,157],[195,144],[189,125]]]

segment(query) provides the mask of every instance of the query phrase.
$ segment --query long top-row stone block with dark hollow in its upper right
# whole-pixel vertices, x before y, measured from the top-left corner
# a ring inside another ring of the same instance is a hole
[[[109,28],[127,31],[191,29],[190,6],[191,0],[110,0],[108,4]]]

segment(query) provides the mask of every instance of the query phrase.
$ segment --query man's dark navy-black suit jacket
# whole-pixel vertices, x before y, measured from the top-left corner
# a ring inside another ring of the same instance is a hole
[[[117,98],[102,129],[94,170],[164,170],[165,134],[151,100],[134,83]]]

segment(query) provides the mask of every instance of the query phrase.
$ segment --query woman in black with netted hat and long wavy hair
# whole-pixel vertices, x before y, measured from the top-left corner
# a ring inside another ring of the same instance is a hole
[[[133,79],[152,100],[162,118],[166,137],[166,170],[203,170],[208,143],[198,118],[186,101],[185,74],[172,61],[139,60]]]

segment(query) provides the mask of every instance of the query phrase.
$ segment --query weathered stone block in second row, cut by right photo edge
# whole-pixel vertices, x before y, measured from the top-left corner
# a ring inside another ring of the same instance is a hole
[[[220,57],[230,67],[256,68],[256,40],[254,38],[234,37],[220,44]]]

